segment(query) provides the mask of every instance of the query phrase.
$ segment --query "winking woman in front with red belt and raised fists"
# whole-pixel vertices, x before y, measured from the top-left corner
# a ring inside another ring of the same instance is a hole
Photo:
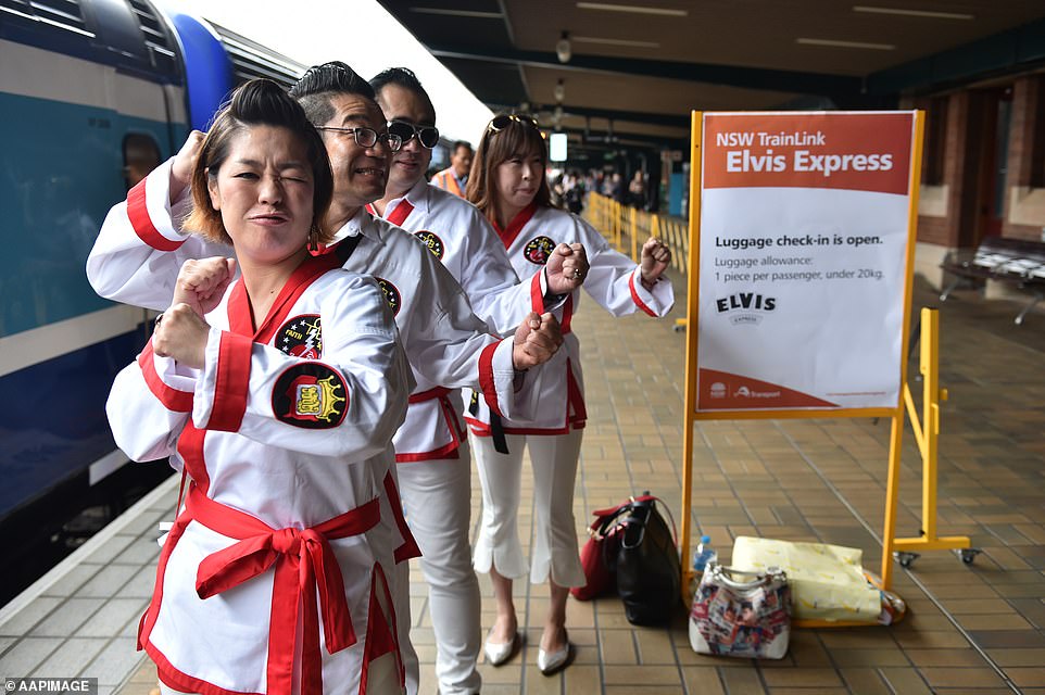
[[[269,80],[238,89],[186,227],[230,242],[241,277],[228,258],[187,263],[113,384],[119,447],[191,480],[138,636],[168,693],[403,688],[408,607],[387,577],[412,539],[390,467],[414,382],[380,288],[318,253],[332,187],[298,103]]]

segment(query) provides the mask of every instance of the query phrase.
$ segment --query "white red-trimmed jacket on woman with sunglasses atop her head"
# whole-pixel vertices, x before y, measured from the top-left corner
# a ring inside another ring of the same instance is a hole
[[[549,254],[559,243],[581,243],[591,266],[583,288],[588,294],[614,316],[643,311],[650,316],[664,316],[675,304],[671,282],[662,277],[653,291],[642,287],[639,266],[609,248],[591,225],[570,213],[554,207],[530,205],[513,219],[506,229],[496,229],[519,277],[531,277],[533,311],[543,312],[543,290],[537,286],[533,270],[543,267]],[[584,427],[583,379],[580,366],[580,342],[570,330],[570,319],[580,303],[580,290],[566,298],[554,309],[563,329],[563,346],[552,359],[533,369],[517,395],[517,407],[527,419],[504,417],[504,431],[509,434],[564,434]],[[564,388],[565,384],[565,388]],[[478,409],[466,415],[473,433],[490,435],[490,409],[478,399]]]

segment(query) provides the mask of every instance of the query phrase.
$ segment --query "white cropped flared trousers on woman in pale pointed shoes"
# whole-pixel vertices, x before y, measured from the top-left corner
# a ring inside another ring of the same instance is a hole
[[[507,579],[527,573],[519,542],[519,496],[522,484],[522,450],[530,451],[533,468],[533,547],[530,582],[541,584],[551,576],[559,586],[583,586],[584,570],[577,547],[574,522],[574,483],[583,430],[567,434],[506,434],[508,453],[493,447],[493,438],[469,433],[482,483],[482,523],[476,540],[475,568],[491,567]]]

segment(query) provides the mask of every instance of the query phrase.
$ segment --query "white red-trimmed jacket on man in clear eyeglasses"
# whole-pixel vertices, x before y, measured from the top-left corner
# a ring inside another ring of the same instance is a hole
[[[174,208],[168,202],[172,162],[158,167],[109,212],[87,260],[87,277],[100,295],[165,309],[185,261],[231,253],[228,247],[177,228],[174,220],[184,218],[189,202],[188,195]],[[461,440],[459,430],[452,427],[459,403],[440,396],[448,389],[478,387],[488,407],[511,414],[512,340],[491,334],[491,328],[473,314],[467,296],[427,243],[364,210],[345,224],[338,239],[327,251],[347,255],[342,244],[357,243],[344,267],[374,275],[385,291],[417,382],[406,421],[395,434],[398,458],[453,457]]]

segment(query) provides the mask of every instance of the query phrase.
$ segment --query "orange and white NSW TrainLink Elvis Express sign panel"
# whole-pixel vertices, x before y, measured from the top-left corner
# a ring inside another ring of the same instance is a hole
[[[898,406],[915,125],[704,114],[697,412]]]

